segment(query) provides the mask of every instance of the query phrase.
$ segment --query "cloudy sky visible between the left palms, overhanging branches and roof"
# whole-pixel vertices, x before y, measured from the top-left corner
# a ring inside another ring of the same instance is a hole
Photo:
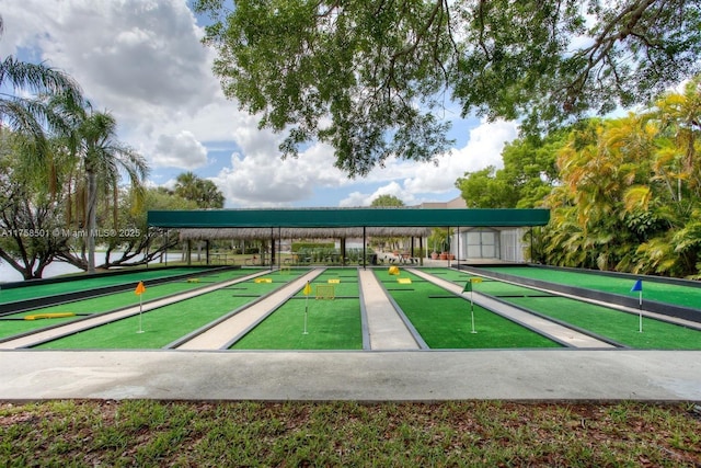
[[[437,164],[390,160],[350,180],[321,144],[280,160],[281,136],[258,130],[255,116],[223,98],[211,72],[215,52],[199,41],[206,19],[186,0],[4,0],[0,14],[1,57],[70,73],[149,161],[151,185],[172,186],[192,171],[217,184],[226,207],[367,206],[382,194],[407,205],[449,201],[466,171],[501,167],[504,144],[517,133],[515,123],[446,110],[456,145]]]

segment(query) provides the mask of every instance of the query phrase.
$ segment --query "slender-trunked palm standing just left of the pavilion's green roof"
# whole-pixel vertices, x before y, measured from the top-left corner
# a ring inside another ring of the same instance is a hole
[[[117,124],[112,114],[93,112],[88,106],[79,117],[73,132],[72,141],[76,146],[72,153],[77,158],[79,172],[83,172],[85,179],[77,183],[76,193],[82,195],[77,196],[77,205],[84,214],[87,271],[94,273],[99,194],[111,192],[116,199],[120,176],[126,174],[130,190],[136,195],[134,208],[138,209],[149,169],[141,155],[116,139]],[[113,208],[116,209],[116,203]]]

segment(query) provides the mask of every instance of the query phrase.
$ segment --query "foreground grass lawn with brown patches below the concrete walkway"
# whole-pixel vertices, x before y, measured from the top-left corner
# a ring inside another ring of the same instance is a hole
[[[12,467],[693,467],[700,446],[693,404],[0,404]]]

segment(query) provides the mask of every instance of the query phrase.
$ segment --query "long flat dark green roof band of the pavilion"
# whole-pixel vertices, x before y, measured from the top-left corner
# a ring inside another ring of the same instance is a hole
[[[310,208],[148,212],[161,228],[520,227],[544,226],[548,209]]]

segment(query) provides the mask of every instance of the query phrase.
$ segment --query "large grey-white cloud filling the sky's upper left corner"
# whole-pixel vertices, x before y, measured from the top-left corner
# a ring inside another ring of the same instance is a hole
[[[134,139],[221,99],[214,53],[183,0],[10,0],[2,14],[3,53],[19,46],[66,70]]]

